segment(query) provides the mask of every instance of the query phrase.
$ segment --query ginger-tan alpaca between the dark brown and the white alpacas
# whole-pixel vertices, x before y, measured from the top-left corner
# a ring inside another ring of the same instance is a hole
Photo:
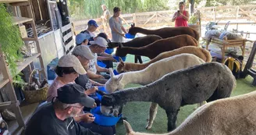
[[[212,55],[210,54],[210,52],[208,52],[208,50],[194,46],[184,46],[182,48],[177,48],[169,52],[162,52],[157,57],[155,57],[155,59],[151,59],[151,61],[143,64],[123,62],[121,59],[116,69],[118,73],[137,71],[145,69],[151,63],[157,62],[158,60],[165,59],[173,55],[179,55],[182,53],[190,53],[193,55],[197,55],[197,57],[203,59],[204,62],[212,62]]]

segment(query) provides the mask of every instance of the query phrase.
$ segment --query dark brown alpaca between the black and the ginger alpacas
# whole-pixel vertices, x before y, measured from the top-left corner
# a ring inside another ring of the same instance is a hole
[[[123,57],[127,54],[132,54],[144,55],[150,59],[154,59],[162,52],[172,51],[176,48],[182,48],[183,46],[197,46],[197,40],[190,35],[183,34],[176,37],[160,39],[140,48],[122,47],[122,45],[120,45],[119,48],[116,49],[116,56]]]

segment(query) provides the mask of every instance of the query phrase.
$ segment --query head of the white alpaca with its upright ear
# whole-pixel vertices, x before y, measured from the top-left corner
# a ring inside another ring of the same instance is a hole
[[[123,84],[120,81],[123,79],[123,74],[115,76],[112,69],[109,69],[111,78],[105,83],[105,90],[108,93],[123,89]]]

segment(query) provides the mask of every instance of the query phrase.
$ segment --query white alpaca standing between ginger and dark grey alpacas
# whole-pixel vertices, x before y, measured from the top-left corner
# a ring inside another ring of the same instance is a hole
[[[184,53],[159,60],[158,62],[149,65],[146,69],[139,71],[122,73],[115,76],[111,70],[111,78],[107,81],[107,83],[105,83],[105,89],[109,93],[112,93],[117,90],[123,90],[128,83],[139,83],[140,85],[146,85],[160,79],[167,73],[171,73],[179,69],[185,69],[190,66],[200,65],[202,63],[204,63],[204,60],[200,59],[196,55]],[[158,104],[152,102],[149,110],[149,119],[146,129],[151,128],[157,113],[157,109]]]

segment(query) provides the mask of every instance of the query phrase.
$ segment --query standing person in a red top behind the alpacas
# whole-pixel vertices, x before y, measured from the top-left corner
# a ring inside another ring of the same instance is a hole
[[[172,16],[172,22],[175,21],[175,27],[188,27],[187,21],[190,18],[189,12],[186,11],[185,2],[179,3],[179,9]]]

